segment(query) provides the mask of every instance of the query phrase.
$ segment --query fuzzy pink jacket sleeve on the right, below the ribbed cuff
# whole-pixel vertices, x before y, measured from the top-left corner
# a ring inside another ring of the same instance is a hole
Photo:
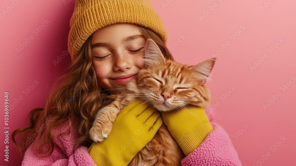
[[[207,116],[214,130],[197,149],[181,161],[182,166],[242,166],[237,151],[226,131],[215,123],[215,113],[206,109]]]

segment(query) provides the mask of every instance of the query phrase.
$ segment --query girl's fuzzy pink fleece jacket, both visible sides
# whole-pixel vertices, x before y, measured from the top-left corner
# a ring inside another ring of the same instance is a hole
[[[237,151],[226,131],[214,122],[214,113],[209,109],[206,110],[210,123],[214,130],[211,131],[200,146],[190,153],[187,157],[182,159],[182,166],[241,166],[242,163],[238,158]],[[68,123],[65,122],[63,126],[55,130],[54,151],[49,157],[40,158],[36,151],[33,151],[32,145],[29,146],[25,152],[22,166],[96,166],[94,160],[88,153],[88,148],[82,146],[75,150],[72,149],[75,141],[76,131],[73,131],[67,137],[57,138],[56,135],[59,130],[66,131]],[[62,146],[65,150],[62,150]]]

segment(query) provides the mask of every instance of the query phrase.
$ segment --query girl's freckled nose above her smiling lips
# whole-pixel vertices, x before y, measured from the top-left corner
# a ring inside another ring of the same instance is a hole
[[[131,57],[126,54],[117,54],[113,66],[114,71],[127,71],[132,67]]]

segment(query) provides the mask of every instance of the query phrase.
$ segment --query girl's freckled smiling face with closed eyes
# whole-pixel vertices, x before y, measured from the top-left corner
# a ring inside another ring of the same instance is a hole
[[[124,87],[144,67],[141,59],[145,45],[146,39],[130,23],[116,23],[95,31],[91,50],[99,85],[105,90]]]

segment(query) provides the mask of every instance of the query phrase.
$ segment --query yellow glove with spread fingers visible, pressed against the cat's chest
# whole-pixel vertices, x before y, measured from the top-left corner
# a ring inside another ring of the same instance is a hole
[[[133,101],[118,113],[108,137],[89,147],[89,154],[97,165],[128,165],[162,124],[158,111]]]

